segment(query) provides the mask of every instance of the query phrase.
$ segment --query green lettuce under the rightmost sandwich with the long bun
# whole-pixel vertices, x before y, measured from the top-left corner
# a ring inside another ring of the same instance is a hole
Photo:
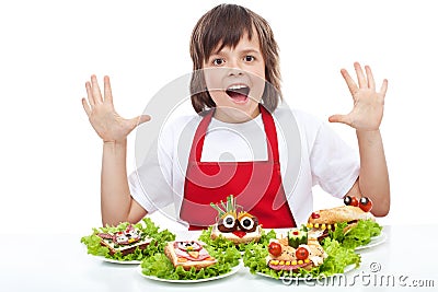
[[[334,231],[328,232],[328,236],[350,249],[369,244],[371,237],[380,235],[382,231],[382,226],[372,220],[359,220],[356,226],[344,232],[346,226],[345,222],[338,223]]]

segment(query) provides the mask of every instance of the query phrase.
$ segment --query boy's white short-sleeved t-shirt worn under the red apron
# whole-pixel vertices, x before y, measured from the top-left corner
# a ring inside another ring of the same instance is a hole
[[[359,175],[359,159],[326,122],[300,110],[278,107],[274,114],[283,185],[297,224],[313,210],[312,187],[320,185],[342,198]],[[149,213],[174,203],[178,214],[184,198],[185,170],[193,137],[201,117],[194,114],[166,122],[157,148],[128,177],[132,198]],[[262,116],[243,124],[215,118],[208,127],[201,161],[263,161],[267,159]]]

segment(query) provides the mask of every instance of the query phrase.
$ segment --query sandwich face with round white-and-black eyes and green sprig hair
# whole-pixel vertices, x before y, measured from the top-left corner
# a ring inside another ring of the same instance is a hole
[[[223,237],[234,244],[257,243],[262,236],[262,225],[258,219],[249,212],[242,210],[237,205],[235,198],[230,195],[227,197],[227,203],[210,203],[218,211],[217,223],[211,227],[211,240]]]

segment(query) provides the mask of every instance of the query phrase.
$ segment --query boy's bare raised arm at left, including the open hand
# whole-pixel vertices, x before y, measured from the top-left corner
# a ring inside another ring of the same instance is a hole
[[[83,108],[94,130],[103,140],[101,174],[101,212],[103,225],[138,222],[147,214],[130,196],[126,173],[126,138],[139,124],[150,119],[140,116],[124,119],[114,109],[110,78],[104,78],[104,97],[95,75],[85,83],[88,100]]]

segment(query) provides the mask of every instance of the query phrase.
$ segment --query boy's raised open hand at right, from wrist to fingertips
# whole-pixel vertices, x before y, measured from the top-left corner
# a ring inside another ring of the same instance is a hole
[[[371,68],[365,66],[366,74],[364,74],[362,68],[358,62],[355,62],[354,66],[358,84],[351,79],[347,70],[341,70],[353,96],[353,109],[348,115],[333,115],[328,118],[328,121],[343,122],[358,131],[379,130],[383,117],[383,104],[388,89],[388,80],[384,79],[380,92],[376,92],[376,83]]]

